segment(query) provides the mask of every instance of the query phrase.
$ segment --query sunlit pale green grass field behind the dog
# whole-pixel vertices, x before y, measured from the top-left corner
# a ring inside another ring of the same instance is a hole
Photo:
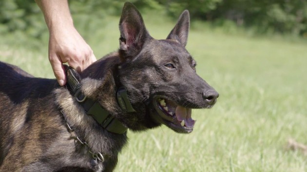
[[[96,57],[118,48],[119,18],[106,19],[81,32]],[[174,21],[160,19],[144,17],[152,36],[163,39]],[[32,40],[1,35],[0,60],[53,78],[47,42],[29,48]],[[191,134],[165,126],[129,131],[116,172],[306,172],[307,156],[288,150],[287,142],[307,144],[307,43],[225,34],[198,24],[187,50],[197,73],[220,93],[217,103],[193,110]]]

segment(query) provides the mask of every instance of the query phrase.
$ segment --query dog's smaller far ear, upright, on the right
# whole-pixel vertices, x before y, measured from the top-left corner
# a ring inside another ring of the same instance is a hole
[[[167,36],[167,39],[175,39],[179,41],[184,47],[187,45],[188,34],[190,29],[190,14],[188,10],[184,10],[175,27],[171,33]]]

